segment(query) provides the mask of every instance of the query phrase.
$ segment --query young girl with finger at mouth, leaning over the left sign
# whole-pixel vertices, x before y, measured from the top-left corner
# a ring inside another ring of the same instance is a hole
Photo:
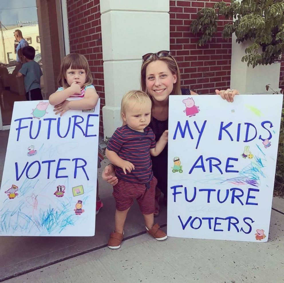
[[[69,109],[88,110],[96,106],[98,94],[92,85],[93,79],[87,59],[77,53],[71,53],[62,60],[58,76],[58,90],[49,97],[49,103],[54,106],[55,114],[62,116]],[[103,155],[100,146],[98,147],[98,168]],[[96,214],[103,206],[96,196]]]

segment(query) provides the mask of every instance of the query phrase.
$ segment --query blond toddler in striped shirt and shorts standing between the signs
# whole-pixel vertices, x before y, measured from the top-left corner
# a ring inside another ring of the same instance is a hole
[[[150,154],[159,155],[167,144],[168,131],[155,141],[155,134],[148,127],[151,120],[152,102],[149,96],[139,90],[126,93],[121,101],[121,117],[124,126],[117,128],[107,145],[107,158],[115,165],[118,183],[113,186],[116,202],[115,230],[108,242],[110,249],[118,249],[123,239],[123,227],[127,212],[137,199],[143,213],[146,230],[158,241],[167,234],[154,225],[155,188],[157,179],[153,176]]]

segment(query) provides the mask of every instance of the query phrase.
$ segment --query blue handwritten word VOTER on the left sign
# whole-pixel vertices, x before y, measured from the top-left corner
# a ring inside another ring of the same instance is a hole
[[[63,170],[66,170],[66,167],[61,167],[64,166],[61,163],[63,162],[68,162],[68,165],[70,166],[70,161],[71,159],[67,158],[60,158],[58,161],[56,160],[45,160],[45,161],[33,161],[31,163],[26,162],[25,166],[22,166],[21,169],[19,169],[19,165],[17,162],[15,162],[15,171],[16,171],[16,180],[18,181],[21,179],[23,174],[25,173],[25,176],[28,179],[34,179],[40,175],[40,172],[42,169],[46,171],[46,178],[50,178],[50,171],[52,169],[53,172],[55,172],[55,178],[68,178],[68,175],[60,175]],[[77,177],[77,169],[81,168],[81,170],[84,172],[84,175],[87,180],[89,180],[88,174],[85,170],[85,166],[87,165],[87,161],[83,158],[73,158],[72,159],[73,164],[72,168],[74,168],[74,179]],[[54,166],[56,165],[56,167]],[[65,165],[67,166],[67,165]],[[59,172],[60,171],[60,172]],[[68,168],[68,171],[70,169]],[[72,170],[73,171],[73,170]],[[45,176],[41,176],[42,178],[45,178]],[[81,176],[80,176],[81,177]]]

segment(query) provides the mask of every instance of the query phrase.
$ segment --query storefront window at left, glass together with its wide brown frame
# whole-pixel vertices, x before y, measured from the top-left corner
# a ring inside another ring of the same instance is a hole
[[[35,49],[34,61],[43,73],[39,83],[43,99],[57,88],[59,62],[65,56],[61,1],[1,1],[0,37],[1,130],[11,123],[14,102],[29,99],[23,77],[16,77],[25,63],[18,51],[23,43]]]

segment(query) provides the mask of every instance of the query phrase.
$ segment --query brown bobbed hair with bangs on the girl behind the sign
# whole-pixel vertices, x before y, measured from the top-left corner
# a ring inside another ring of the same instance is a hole
[[[91,85],[93,83],[93,78],[86,57],[78,53],[70,53],[66,55],[62,60],[60,72],[57,79],[58,86],[64,88],[70,87],[66,79],[66,71],[69,68],[74,70],[83,69],[86,72],[86,81],[82,87]]]

